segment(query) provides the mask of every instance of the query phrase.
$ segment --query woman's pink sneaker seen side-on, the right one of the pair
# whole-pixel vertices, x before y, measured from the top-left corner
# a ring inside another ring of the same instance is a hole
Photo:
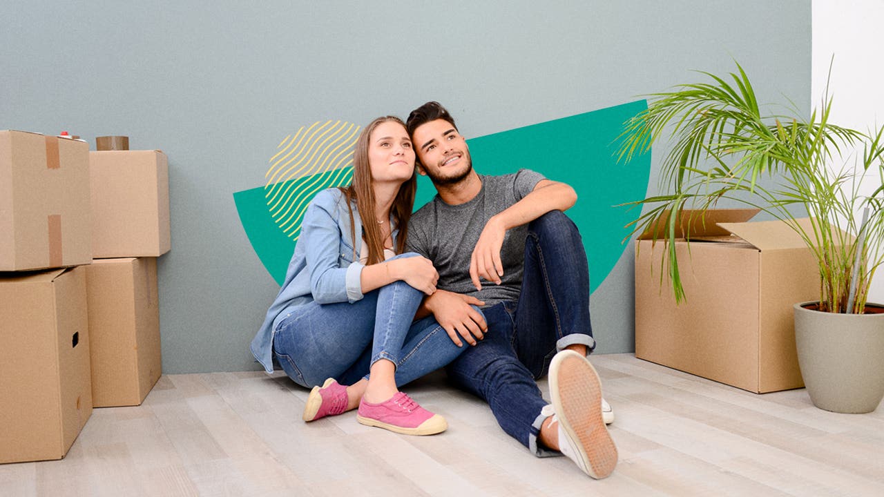
[[[423,409],[401,392],[379,404],[366,402],[363,398],[359,402],[356,420],[367,426],[377,426],[405,435],[433,435],[448,429],[444,417]]]

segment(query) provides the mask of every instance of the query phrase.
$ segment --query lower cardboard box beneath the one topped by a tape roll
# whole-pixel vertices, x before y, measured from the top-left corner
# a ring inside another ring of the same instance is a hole
[[[137,406],[163,372],[156,258],[95,259],[85,267],[93,405]]]

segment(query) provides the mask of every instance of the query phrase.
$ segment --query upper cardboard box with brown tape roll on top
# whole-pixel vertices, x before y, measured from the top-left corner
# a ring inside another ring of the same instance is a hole
[[[171,248],[169,165],[159,150],[89,152],[92,256],[156,257]]]

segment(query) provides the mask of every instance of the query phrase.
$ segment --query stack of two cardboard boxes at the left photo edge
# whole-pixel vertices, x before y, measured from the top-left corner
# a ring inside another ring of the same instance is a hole
[[[0,131],[0,463],[63,457],[92,413],[90,218],[86,143]]]

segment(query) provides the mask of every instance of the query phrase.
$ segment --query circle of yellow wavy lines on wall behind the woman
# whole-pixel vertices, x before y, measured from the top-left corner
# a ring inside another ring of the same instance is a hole
[[[297,241],[307,204],[317,192],[353,177],[353,149],[360,126],[316,121],[279,141],[264,178],[264,198],[274,223]],[[301,180],[303,179],[303,180]]]

